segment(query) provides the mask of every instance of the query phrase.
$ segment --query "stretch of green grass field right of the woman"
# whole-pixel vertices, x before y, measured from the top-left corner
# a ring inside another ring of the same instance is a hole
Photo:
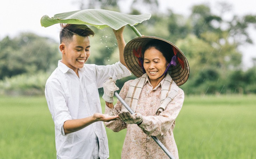
[[[255,103],[255,96],[188,97],[174,129],[180,158],[255,158]]]

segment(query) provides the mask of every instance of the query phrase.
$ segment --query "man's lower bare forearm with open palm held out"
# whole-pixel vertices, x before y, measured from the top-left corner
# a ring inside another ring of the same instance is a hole
[[[81,130],[96,121],[109,122],[112,120],[117,120],[117,118],[119,118],[118,115],[110,116],[106,114],[95,113],[93,116],[89,116],[87,118],[67,120],[63,124],[63,129],[66,135],[71,132]]]

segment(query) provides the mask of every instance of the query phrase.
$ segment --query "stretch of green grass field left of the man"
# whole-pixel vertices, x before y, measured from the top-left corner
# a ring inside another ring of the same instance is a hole
[[[56,158],[45,97],[1,97],[0,112],[0,158]]]

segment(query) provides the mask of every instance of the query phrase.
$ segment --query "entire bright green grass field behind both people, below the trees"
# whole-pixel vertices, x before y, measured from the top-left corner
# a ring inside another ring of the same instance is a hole
[[[188,96],[176,120],[181,159],[256,158],[256,95]],[[56,158],[45,97],[0,97],[0,158]],[[119,159],[126,130],[107,130],[109,159]]]

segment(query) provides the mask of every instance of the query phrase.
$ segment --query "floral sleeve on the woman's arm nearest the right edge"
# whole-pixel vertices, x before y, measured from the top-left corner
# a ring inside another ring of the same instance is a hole
[[[140,128],[150,136],[162,136],[173,128],[175,119],[180,113],[184,101],[184,92],[179,89],[177,96],[167,105],[166,109],[156,116],[143,116]]]

